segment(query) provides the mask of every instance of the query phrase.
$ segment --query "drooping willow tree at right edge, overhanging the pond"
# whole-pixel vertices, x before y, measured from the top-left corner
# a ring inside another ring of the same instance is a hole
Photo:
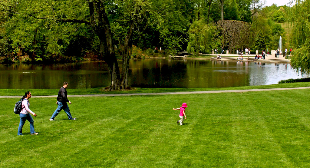
[[[292,3],[292,2],[291,2]],[[288,13],[292,31],[290,42],[293,45],[292,68],[301,74],[310,72],[310,1],[296,0]]]

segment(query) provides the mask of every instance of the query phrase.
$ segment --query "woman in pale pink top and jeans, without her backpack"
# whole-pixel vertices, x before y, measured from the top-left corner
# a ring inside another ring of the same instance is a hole
[[[30,109],[29,109],[29,99],[31,98],[31,93],[30,91],[27,91],[25,93],[25,95],[21,98],[23,100],[22,102],[22,110],[20,112],[20,125],[18,126],[18,133],[17,135],[23,135],[22,134],[22,130],[23,130],[23,126],[26,122],[26,120],[28,120],[30,122],[30,134],[31,135],[38,135],[38,132],[34,131],[34,126],[33,126],[33,119],[31,117],[31,115],[29,113],[31,113],[34,117],[37,117],[36,113],[33,113]]]

